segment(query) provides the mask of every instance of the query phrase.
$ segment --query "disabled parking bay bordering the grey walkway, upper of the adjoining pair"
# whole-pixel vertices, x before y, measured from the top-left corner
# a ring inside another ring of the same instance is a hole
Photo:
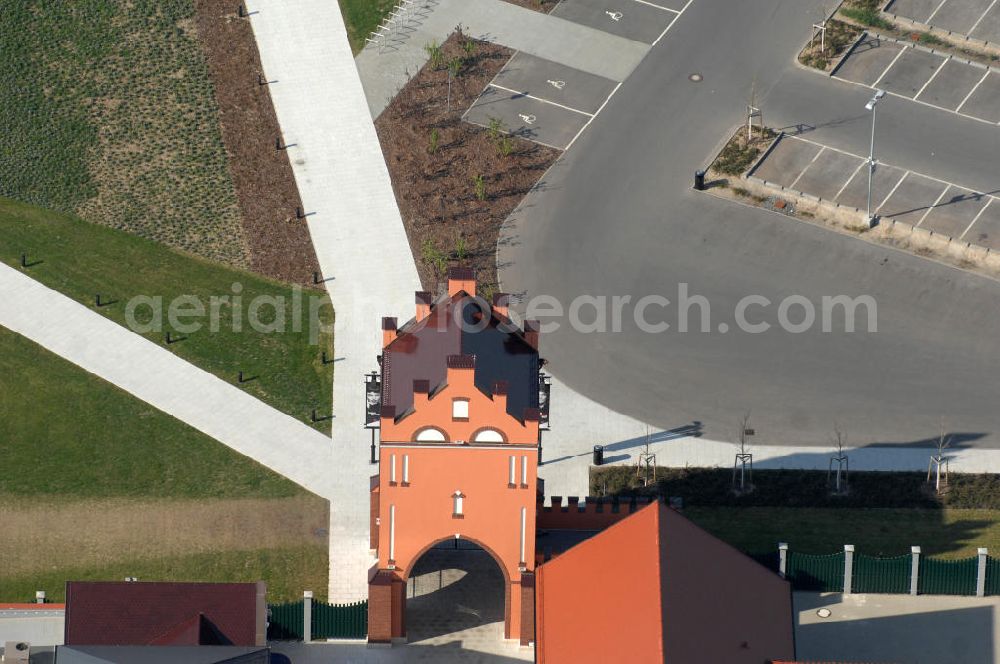
[[[617,85],[610,79],[527,53],[511,58],[493,83],[587,113],[596,113]]]

